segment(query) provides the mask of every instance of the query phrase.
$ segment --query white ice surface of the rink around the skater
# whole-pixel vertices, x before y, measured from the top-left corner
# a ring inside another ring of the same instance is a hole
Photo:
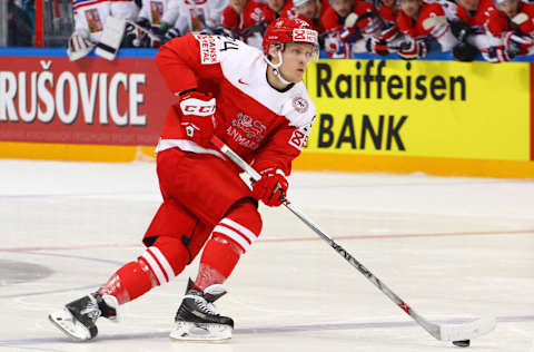
[[[534,182],[294,173],[289,198],[427,320],[496,316],[473,351],[534,352]],[[70,342],[50,311],[142,251],[160,203],[155,164],[0,160],[0,351],[453,351],[284,208],[228,280],[231,341],[168,338],[194,262]]]

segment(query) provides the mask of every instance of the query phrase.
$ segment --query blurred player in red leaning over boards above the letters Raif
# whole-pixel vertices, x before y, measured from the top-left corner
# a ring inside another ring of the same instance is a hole
[[[326,31],[325,51],[333,58],[365,52],[367,39],[382,29],[375,6],[363,0],[330,0],[320,20]]]

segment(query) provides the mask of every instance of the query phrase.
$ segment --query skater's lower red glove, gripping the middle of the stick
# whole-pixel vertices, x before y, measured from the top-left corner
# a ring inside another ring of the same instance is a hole
[[[253,197],[263,201],[267,206],[279,206],[287,193],[289,184],[279,169],[269,167],[259,170],[261,178],[253,184]]]

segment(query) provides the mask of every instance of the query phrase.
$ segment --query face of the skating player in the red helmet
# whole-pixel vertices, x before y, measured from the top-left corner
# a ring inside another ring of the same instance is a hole
[[[313,45],[288,42],[281,52],[281,76],[294,84],[298,84],[303,80],[304,74],[308,62],[316,55],[316,50]]]

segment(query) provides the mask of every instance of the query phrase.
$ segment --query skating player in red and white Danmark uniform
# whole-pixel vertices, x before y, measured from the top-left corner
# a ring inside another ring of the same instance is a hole
[[[120,304],[180,274],[207,242],[170,336],[231,336],[234,321],[212,303],[260,234],[258,202],[283,203],[291,162],[315,118],[301,80],[317,50],[317,32],[287,18],[267,28],[263,51],[231,38],[191,33],[161,47],[156,63],[177,102],[156,149],[164,203],[142,239],[147,248],[97,292],[50,314],[53,324],[76,340],[96,338],[99,316],[115,320]],[[261,175],[251,189],[210,144],[214,135]]]

